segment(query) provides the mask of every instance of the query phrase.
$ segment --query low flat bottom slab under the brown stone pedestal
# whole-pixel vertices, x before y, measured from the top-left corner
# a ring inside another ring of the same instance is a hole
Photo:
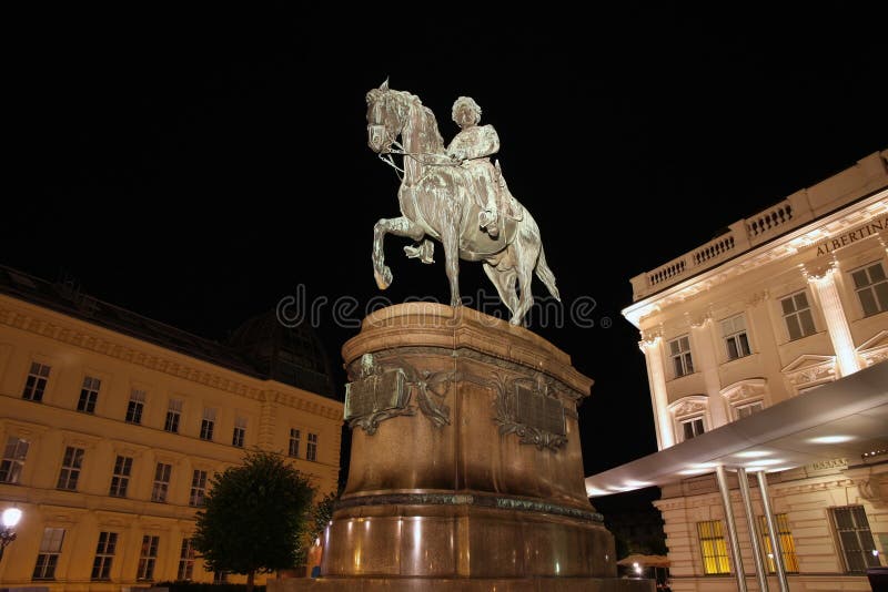
[[[268,592],[654,592],[654,580],[616,578],[269,579]]]

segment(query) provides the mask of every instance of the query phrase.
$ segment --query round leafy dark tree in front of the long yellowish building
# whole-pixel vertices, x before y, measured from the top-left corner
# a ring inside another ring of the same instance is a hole
[[[314,489],[280,455],[255,450],[211,480],[194,548],[208,570],[246,575],[292,568]]]

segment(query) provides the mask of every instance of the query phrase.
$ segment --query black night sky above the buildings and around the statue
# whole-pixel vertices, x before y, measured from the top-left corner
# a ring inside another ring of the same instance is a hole
[[[541,227],[565,316],[595,303],[592,327],[531,324],[596,381],[581,407],[587,474],[656,448],[638,334],[620,315],[629,278],[888,147],[872,4],[182,4],[9,22],[23,41],[4,74],[0,263],[215,339],[300,286],[314,303],[353,298],[355,326],[329,306],[319,317],[339,365],[372,297],[448,302],[441,262],[405,259],[397,237],[395,283],[376,289],[372,229],[398,215],[397,180],[366,145],[364,95],[389,78],[445,141],[453,100],[471,95]],[[461,282],[493,294],[478,264]]]

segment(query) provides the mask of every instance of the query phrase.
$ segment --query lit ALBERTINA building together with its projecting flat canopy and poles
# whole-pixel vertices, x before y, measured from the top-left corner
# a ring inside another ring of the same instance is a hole
[[[660,487],[676,592],[870,590],[886,565],[887,159],[632,278],[659,452],[586,484]]]

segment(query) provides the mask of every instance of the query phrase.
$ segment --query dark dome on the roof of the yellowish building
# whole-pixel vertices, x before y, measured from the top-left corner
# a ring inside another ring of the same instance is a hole
[[[228,345],[246,356],[265,378],[336,398],[330,359],[307,324],[287,327],[272,309],[243,323]]]

